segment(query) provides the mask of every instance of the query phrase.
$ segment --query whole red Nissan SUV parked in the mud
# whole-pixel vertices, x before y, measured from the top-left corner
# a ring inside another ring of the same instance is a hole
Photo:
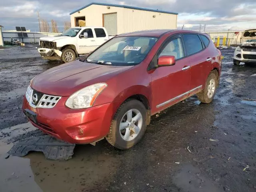
[[[141,140],[150,116],[194,94],[210,103],[220,71],[220,51],[207,34],[126,33],[33,78],[22,109],[56,138],[77,144],[106,138],[127,149]]]

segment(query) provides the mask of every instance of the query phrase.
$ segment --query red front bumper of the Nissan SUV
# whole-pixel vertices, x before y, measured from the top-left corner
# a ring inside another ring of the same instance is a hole
[[[65,106],[67,99],[62,97],[54,108],[33,108],[24,96],[22,110],[36,113],[36,122],[28,118],[33,126],[66,142],[87,144],[108,134],[113,113],[112,103],[72,110]]]

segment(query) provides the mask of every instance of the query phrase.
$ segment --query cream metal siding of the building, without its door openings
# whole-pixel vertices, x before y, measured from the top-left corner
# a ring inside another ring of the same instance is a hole
[[[110,9],[107,7],[110,7]],[[118,34],[138,30],[177,28],[177,14],[97,4],[92,4],[79,11],[80,13],[70,14],[72,27],[75,26],[75,17],[81,16],[85,16],[86,26],[103,26],[102,14],[116,12]]]

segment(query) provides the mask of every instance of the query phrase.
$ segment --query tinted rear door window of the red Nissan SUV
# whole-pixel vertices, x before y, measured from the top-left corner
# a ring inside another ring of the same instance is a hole
[[[184,40],[187,56],[203,50],[203,45],[198,35],[184,34],[183,40]]]

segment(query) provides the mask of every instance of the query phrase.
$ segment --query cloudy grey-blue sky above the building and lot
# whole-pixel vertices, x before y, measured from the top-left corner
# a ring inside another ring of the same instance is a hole
[[[4,30],[26,26],[38,31],[37,11],[40,18],[50,24],[58,23],[60,31],[64,21],[70,21],[69,13],[93,1],[90,0],[1,0],[0,25]],[[256,0],[101,0],[97,2],[124,4],[143,8],[178,12],[178,28],[199,30],[206,24],[206,31],[243,30],[256,28]]]

